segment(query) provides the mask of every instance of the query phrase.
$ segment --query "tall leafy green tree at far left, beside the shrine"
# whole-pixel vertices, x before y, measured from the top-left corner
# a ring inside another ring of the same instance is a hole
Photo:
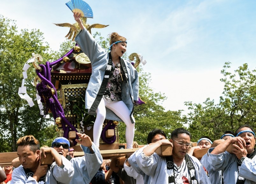
[[[15,21],[0,15],[0,127],[2,139],[1,151],[16,151],[16,141],[25,134],[39,136],[46,128],[48,119],[39,115],[38,106],[29,107],[26,100],[18,96],[23,79],[22,68],[32,52],[43,58],[50,58],[49,45],[44,42],[43,33],[33,29],[18,31]],[[27,71],[25,80],[27,94],[35,99],[35,87],[31,80],[35,76],[33,67]]]

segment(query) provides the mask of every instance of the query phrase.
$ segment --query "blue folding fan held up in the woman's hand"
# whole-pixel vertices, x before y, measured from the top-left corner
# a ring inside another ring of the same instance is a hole
[[[93,12],[89,4],[82,0],[71,0],[66,3],[68,8],[74,13],[81,13],[81,17],[93,18]]]

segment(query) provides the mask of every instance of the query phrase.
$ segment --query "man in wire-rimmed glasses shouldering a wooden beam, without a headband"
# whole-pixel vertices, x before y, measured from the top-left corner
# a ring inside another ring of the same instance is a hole
[[[202,164],[195,157],[188,155],[191,134],[184,128],[177,128],[171,133],[171,139],[159,140],[144,147],[136,155],[139,168],[151,176],[152,183],[161,184],[210,184]],[[172,146],[172,156],[160,157],[155,151],[161,145]]]

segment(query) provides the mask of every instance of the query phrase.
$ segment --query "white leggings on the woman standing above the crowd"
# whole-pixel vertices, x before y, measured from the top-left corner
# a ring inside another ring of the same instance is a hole
[[[130,111],[123,101],[107,102],[104,98],[101,99],[98,108],[96,109],[96,120],[93,127],[93,142],[99,147],[100,135],[103,127],[103,122],[106,118],[106,107],[113,111],[126,125],[125,139],[126,148],[132,148],[134,138],[134,125],[130,119]]]

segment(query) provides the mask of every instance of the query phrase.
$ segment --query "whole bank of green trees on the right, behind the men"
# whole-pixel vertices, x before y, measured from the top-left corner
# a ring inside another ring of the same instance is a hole
[[[247,64],[238,67],[234,73],[229,72],[229,68],[230,63],[225,63],[221,71],[224,91],[217,104],[210,98],[203,104],[185,102],[190,110],[188,130],[194,141],[203,135],[219,139],[224,131],[235,131],[245,124],[256,127],[256,70],[250,71]]]

